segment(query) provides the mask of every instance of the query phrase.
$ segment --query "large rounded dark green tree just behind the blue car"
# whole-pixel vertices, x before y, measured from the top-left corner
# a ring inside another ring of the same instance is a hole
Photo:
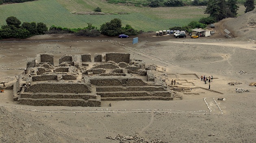
[[[101,25],[100,32],[106,36],[117,36],[121,34],[121,26],[120,19],[112,19],[110,22]]]

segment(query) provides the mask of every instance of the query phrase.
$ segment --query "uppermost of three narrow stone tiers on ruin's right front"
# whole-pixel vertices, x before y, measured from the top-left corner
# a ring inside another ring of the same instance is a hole
[[[167,91],[163,86],[96,86],[97,92],[116,91]]]

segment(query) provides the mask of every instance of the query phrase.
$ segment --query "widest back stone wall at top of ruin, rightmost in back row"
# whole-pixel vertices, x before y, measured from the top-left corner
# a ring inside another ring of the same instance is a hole
[[[106,61],[130,63],[129,53],[106,53]]]

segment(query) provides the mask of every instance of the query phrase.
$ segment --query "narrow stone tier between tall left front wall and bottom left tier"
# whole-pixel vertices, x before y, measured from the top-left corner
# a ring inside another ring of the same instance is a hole
[[[95,94],[93,93],[21,93],[19,98],[34,98],[34,99],[43,99],[43,98],[52,98],[52,99],[96,99]]]

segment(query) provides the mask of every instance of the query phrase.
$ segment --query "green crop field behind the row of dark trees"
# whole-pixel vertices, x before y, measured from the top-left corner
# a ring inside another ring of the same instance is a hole
[[[100,7],[106,15],[86,14],[96,7]],[[7,17],[14,16],[22,23],[43,22],[48,27],[55,25],[78,28],[87,27],[87,23],[92,23],[99,29],[103,23],[119,18],[123,26],[129,24],[145,32],[184,26],[208,16],[200,6],[150,8],[110,4],[103,0],[37,0],[3,4],[0,5],[0,13],[0,25],[6,25]]]

